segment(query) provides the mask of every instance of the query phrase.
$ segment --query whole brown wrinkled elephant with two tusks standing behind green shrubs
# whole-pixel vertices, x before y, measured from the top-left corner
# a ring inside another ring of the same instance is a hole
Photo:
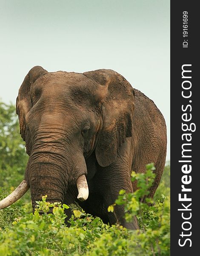
[[[17,96],[20,134],[29,160],[25,179],[0,208],[29,188],[36,201],[78,203],[104,223],[126,222],[123,206],[108,212],[119,191],[134,192],[131,171],[146,172],[154,163],[153,197],[166,161],[166,123],[154,102],[113,70],[48,72],[35,66]],[[67,209],[68,219],[71,212]]]

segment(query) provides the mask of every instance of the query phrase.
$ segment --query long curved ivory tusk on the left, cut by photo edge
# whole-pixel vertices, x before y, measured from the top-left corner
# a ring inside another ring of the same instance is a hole
[[[6,198],[0,201],[0,209],[4,209],[14,202],[16,202],[18,199],[20,199],[27,191],[29,190],[29,187],[26,183],[26,180],[23,180],[20,185],[14,189],[14,191],[8,195]]]

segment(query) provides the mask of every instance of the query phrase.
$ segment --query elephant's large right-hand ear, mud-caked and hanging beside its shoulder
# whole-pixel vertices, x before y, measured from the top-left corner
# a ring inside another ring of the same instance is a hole
[[[126,137],[132,136],[134,89],[126,79],[113,70],[83,73],[97,82],[96,101],[102,102],[104,125],[95,153],[100,166],[114,162]]]

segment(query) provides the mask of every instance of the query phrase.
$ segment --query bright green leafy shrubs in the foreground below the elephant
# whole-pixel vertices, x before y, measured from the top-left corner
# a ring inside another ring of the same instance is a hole
[[[140,231],[127,230],[120,224],[103,224],[100,218],[86,214],[77,206],[73,206],[71,227],[66,227],[64,209],[69,207],[50,204],[43,196],[34,214],[25,213],[21,203],[0,211],[6,211],[3,218],[11,215],[0,232],[0,253],[4,256],[169,255],[169,198],[161,196],[153,206],[140,201],[153,182],[151,169],[153,166],[149,165],[146,174],[133,173],[132,179],[136,179],[139,186],[137,191],[126,194],[122,190],[115,202],[124,204],[127,221],[137,214]],[[109,207],[109,211],[114,211],[114,207]],[[52,213],[47,214],[49,208]]]

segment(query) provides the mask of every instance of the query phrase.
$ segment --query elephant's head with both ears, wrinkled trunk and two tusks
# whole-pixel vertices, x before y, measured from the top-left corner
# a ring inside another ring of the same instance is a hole
[[[84,201],[89,193],[86,159],[94,152],[100,166],[109,166],[132,136],[134,90],[113,70],[49,73],[36,66],[20,87],[16,108],[29,161],[25,180],[0,208],[29,188],[33,208],[42,195],[63,203],[74,184]]]

